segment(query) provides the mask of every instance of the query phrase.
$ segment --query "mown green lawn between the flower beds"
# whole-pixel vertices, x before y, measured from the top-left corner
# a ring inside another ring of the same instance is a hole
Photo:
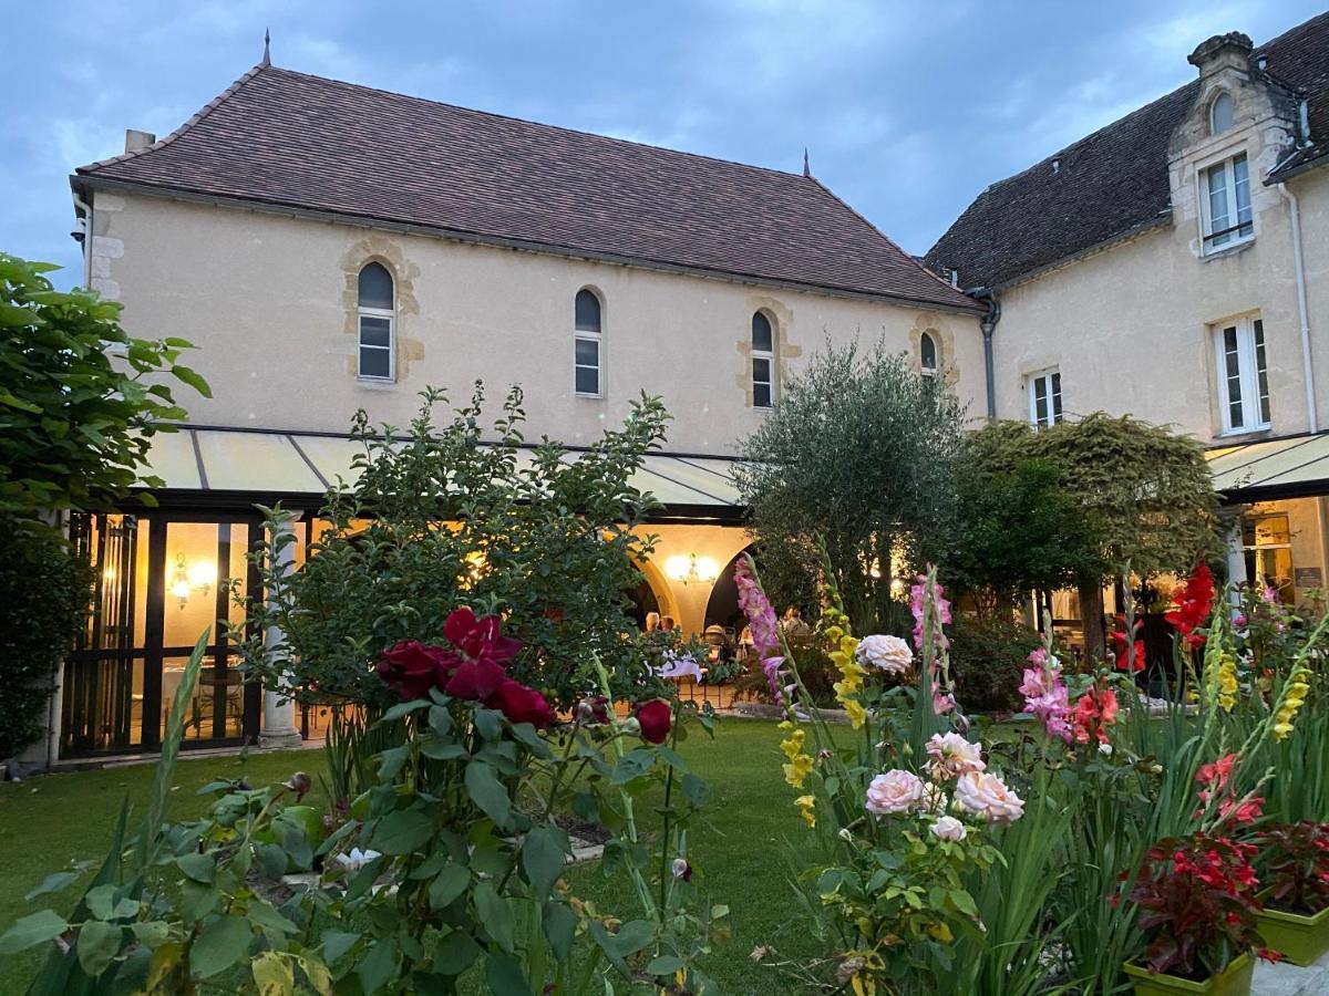
[[[682,753],[712,789],[707,810],[712,826],[698,826],[691,834],[690,859],[698,871],[694,882],[712,902],[731,910],[727,920],[732,936],[718,946],[703,968],[726,993],[793,991],[775,971],[748,957],[758,946],[772,946],[792,957],[819,954],[789,886],[787,842],[807,843],[807,831],[780,774],[779,730],[771,722],[731,720],[719,725],[714,741],[695,725],[688,732]],[[182,761],[175,769],[166,818],[199,815],[210,799],[197,795],[197,789],[217,778],[245,774],[251,785],[266,785],[284,781],[296,769],[316,776],[323,769],[322,752]],[[8,855],[5,874],[0,875],[0,932],[19,916],[51,903],[52,896],[24,900],[49,872],[70,861],[101,859],[121,799],[128,794],[130,805],[141,811],[154,772],[152,765],[137,765],[0,786],[0,847]],[[315,805],[322,806],[326,801],[318,781],[315,786]],[[645,813],[649,802],[639,811]],[[577,876],[577,891],[605,912],[623,919],[637,915],[626,876],[605,880],[587,871]],[[73,895],[62,894],[52,904],[64,900],[65,911]],[[32,954],[7,959],[0,993],[21,993],[37,963],[39,956]]]

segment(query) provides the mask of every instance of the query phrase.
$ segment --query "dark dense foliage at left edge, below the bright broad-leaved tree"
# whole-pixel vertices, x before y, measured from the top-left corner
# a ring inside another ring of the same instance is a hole
[[[0,758],[45,729],[60,661],[88,611],[90,568],[47,533],[0,530]]]

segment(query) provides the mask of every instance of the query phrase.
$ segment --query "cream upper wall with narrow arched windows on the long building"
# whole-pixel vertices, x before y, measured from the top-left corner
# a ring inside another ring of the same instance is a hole
[[[346,430],[365,408],[403,425],[425,385],[464,400],[482,378],[493,409],[525,390],[529,436],[586,444],[641,392],[663,397],[668,449],[731,453],[764,417],[751,408],[751,316],[777,323],[783,376],[829,337],[913,352],[934,328],[970,410],[983,410],[982,340],[971,315],[936,313],[462,244],[159,197],[98,191],[94,286],[125,304],[137,336],[182,336],[214,398],[182,392],[195,424]],[[723,238],[718,232],[716,238]],[[827,251],[833,252],[833,247]],[[397,280],[397,382],[355,376],[355,274],[369,259]],[[573,297],[603,307],[603,400],[573,393]]]

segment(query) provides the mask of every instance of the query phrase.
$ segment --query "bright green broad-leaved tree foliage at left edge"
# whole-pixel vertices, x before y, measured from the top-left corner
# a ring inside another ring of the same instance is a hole
[[[140,477],[152,436],[185,417],[163,377],[209,394],[177,363],[189,343],[129,336],[120,304],[53,290],[54,268],[0,252],[0,517],[25,522],[159,485]]]

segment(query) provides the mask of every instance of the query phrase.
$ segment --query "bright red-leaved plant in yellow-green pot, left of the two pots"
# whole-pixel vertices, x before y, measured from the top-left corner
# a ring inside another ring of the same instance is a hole
[[[1251,992],[1259,944],[1253,845],[1196,833],[1159,841],[1144,854],[1131,902],[1147,948],[1127,963],[1136,996]]]

